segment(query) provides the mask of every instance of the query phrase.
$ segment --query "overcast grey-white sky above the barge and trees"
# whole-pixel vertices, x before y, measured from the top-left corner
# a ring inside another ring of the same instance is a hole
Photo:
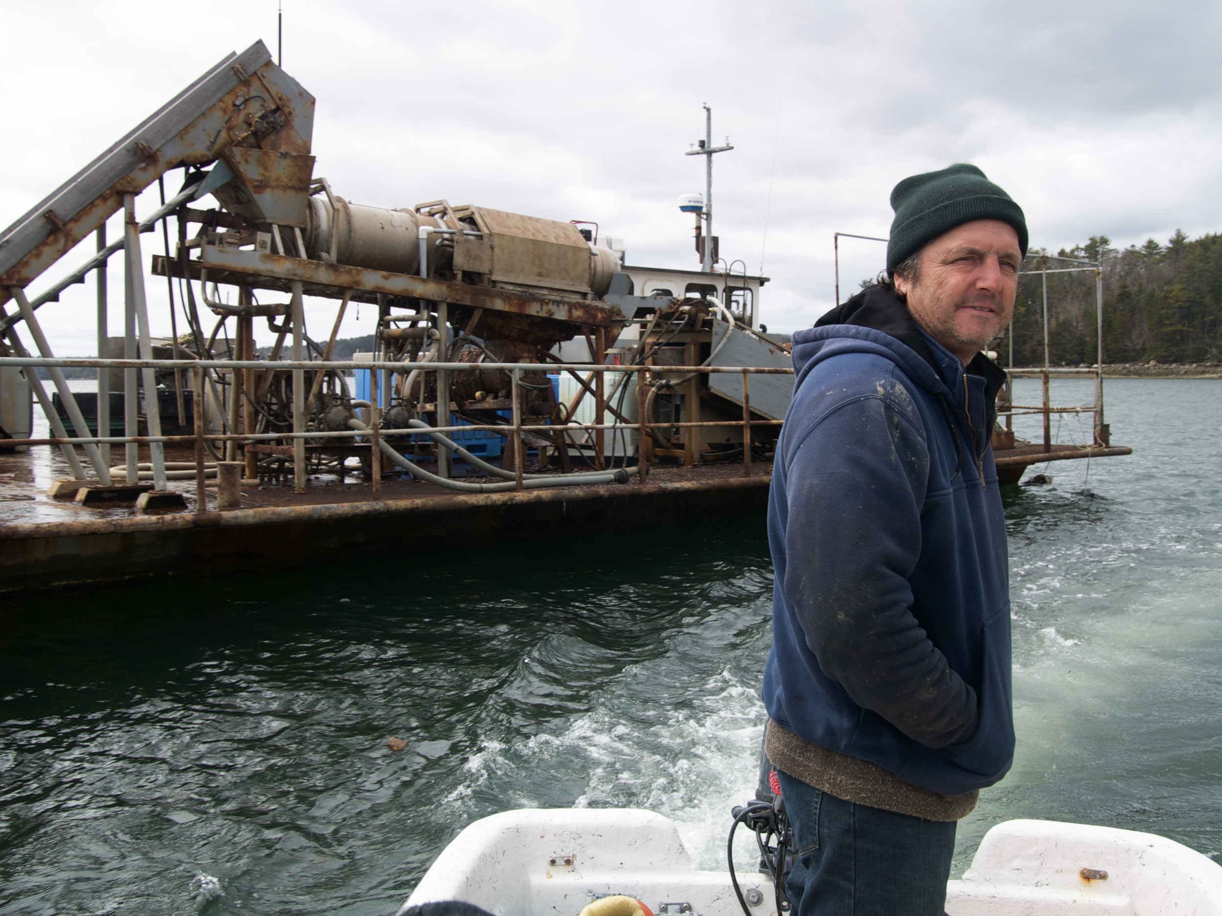
[[[703,191],[683,153],[709,103],[734,145],[715,161],[715,231],[723,256],[771,277],[770,330],[832,307],[833,231],[886,236],[895,183],[956,161],[1011,193],[1033,245],[1222,228],[1216,2],[284,6],[285,70],[318,100],[314,173],[362,204],[595,220],[629,264],[695,269],[676,198]],[[276,0],[2,0],[0,15],[0,225],[229,51],[276,50]],[[882,244],[842,241],[842,291],[882,265]],[[149,289],[167,333],[164,285]],[[112,302],[119,333],[117,282]],[[59,354],[94,352],[93,308],[75,287],[40,313]],[[327,311],[310,308],[312,336]],[[368,333],[371,313],[341,336]]]

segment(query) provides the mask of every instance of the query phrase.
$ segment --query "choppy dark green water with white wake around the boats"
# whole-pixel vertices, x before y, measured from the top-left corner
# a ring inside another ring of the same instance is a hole
[[[1111,382],[1139,453],[1007,496],[1018,756],[957,872],[1011,817],[1222,861],[1220,394]],[[464,824],[528,805],[650,807],[720,868],[770,589],[737,522],[10,601],[0,914],[391,914]]]

